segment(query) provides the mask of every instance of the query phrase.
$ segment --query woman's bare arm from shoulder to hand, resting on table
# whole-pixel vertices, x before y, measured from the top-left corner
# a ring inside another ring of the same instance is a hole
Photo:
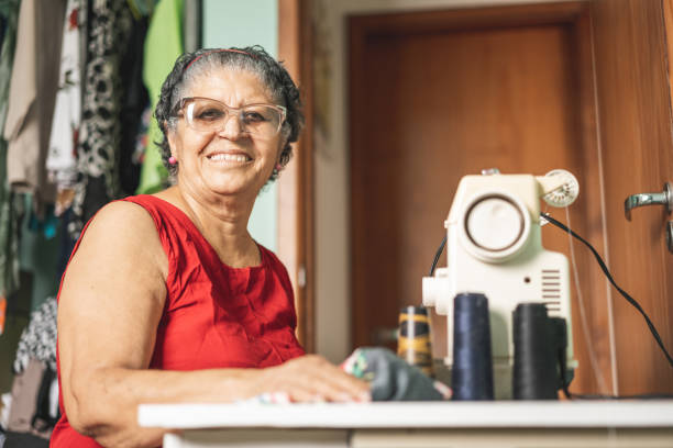
[[[358,400],[367,387],[320,357],[269,369],[150,370],[168,261],[152,217],[115,202],[96,216],[68,266],[58,306],[63,400],[70,425],[101,445],[156,446],[141,403],[228,402],[285,391],[294,400]]]

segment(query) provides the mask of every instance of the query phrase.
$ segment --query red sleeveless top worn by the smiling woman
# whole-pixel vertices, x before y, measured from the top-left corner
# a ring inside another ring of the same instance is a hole
[[[263,368],[305,354],[295,337],[297,317],[289,277],[272,251],[258,246],[260,266],[230,268],[175,205],[152,195],[123,201],[152,215],[168,257],[166,304],[151,369]],[[73,254],[80,242],[81,237]],[[58,385],[60,389],[60,376]],[[68,424],[62,394],[59,407],[62,417],[51,447],[100,446]]]

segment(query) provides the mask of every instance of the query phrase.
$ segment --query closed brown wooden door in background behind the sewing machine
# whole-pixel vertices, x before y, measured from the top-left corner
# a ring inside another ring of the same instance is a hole
[[[421,302],[464,175],[569,169],[581,183],[572,227],[605,253],[589,13],[572,2],[350,19],[354,346],[375,344],[401,306]],[[545,248],[570,256],[567,235],[549,227]],[[574,248],[571,389],[611,393],[610,298],[591,255]],[[441,354],[444,320],[433,324]]]

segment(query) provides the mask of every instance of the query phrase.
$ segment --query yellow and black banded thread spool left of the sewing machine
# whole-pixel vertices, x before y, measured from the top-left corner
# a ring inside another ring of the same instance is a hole
[[[401,309],[397,356],[411,366],[418,367],[428,377],[434,378],[428,309],[423,306],[405,306]]]

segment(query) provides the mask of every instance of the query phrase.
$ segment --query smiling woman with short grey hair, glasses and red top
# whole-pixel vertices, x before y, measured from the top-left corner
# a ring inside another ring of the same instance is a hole
[[[299,107],[260,47],[178,58],[155,112],[176,184],[103,208],[62,282],[53,447],[161,445],[162,430],[137,426],[141,403],[368,400],[364,382],[304,356],[287,271],[247,233]]]

